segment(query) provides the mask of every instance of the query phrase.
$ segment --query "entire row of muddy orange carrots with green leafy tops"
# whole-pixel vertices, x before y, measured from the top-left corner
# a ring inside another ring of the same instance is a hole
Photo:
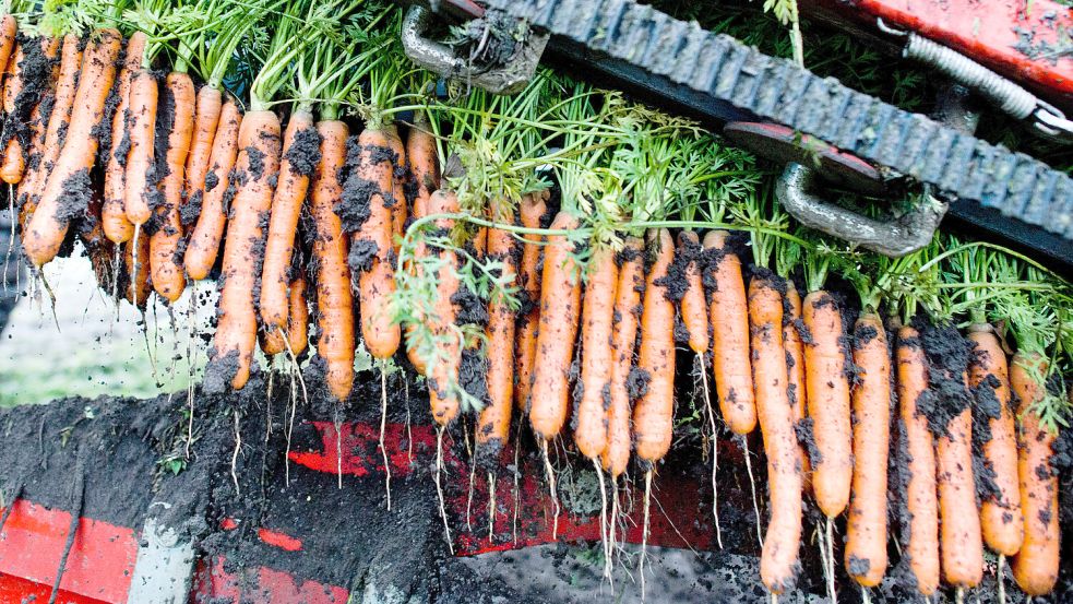
[[[707,441],[720,417],[747,447],[760,428],[773,595],[812,504],[832,595],[836,543],[868,589],[897,530],[925,596],[976,588],[985,547],[1000,585],[1009,558],[1025,593],[1053,588],[1073,291],[1045,268],[945,235],[897,260],[844,249],[795,226],[747,154],[550,71],[514,96],[430,98],[391,4],[102,5],[12,2],[0,21],[0,177],[35,269],[79,238],[142,308],[215,279],[206,390],[243,388],[259,347],[309,359],[339,402],[359,346],[382,379],[406,358],[441,441],[472,417],[490,487],[514,425],[558,505],[549,451],[572,436],[610,578],[630,460],[651,492],[688,350]]]

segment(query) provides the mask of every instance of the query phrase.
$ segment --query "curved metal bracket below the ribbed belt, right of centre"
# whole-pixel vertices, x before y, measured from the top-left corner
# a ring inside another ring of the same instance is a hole
[[[890,222],[878,221],[810,194],[808,190],[814,179],[814,170],[801,164],[787,164],[775,186],[775,196],[804,226],[892,258],[927,246],[949,208],[945,202],[926,194],[916,208],[902,216]]]

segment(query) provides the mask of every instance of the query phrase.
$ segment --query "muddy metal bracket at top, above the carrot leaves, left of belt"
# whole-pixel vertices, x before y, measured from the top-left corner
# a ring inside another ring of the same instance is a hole
[[[509,63],[479,68],[456,56],[445,44],[425,35],[431,17],[432,12],[419,5],[413,5],[406,12],[402,32],[406,56],[425,69],[445,78],[465,81],[493,94],[513,94],[524,88],[536,73],[550,37],[546,33],[529,32]]]

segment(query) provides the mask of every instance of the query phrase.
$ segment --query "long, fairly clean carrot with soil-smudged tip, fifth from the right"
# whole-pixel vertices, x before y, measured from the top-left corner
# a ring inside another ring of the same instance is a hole
[[[854,328],[854,482],[846,523],[846,570],[874,588],[886,572],[886,464],[891,442],[891,353],[878,315]]]

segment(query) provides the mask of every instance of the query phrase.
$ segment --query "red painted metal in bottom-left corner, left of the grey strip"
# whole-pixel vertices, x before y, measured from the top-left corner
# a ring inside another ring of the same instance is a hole
[[[71,514],[20,499],[0,532],[0,571],[51,587]],[[82,518],[60,582],[62,591],[102,602],[127,602],[138,538],[132,529]]]

